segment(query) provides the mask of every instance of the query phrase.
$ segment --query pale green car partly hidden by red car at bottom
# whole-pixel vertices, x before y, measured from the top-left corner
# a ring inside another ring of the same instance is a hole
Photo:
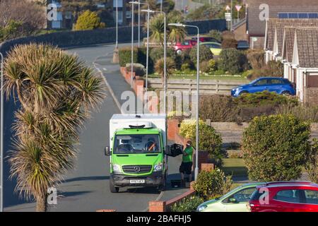
[[[197,212],[247,212],[246,203],[256,187],[264,183],[244,184],[220,198],[202,203]]]

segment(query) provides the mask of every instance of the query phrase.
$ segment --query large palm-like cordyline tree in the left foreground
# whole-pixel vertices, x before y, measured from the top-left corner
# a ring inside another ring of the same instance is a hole
[[[47,210],[47,189],[56,186],[76,159],[78,132],[105,97],[102,79],[57,47],[15,47],[4,64],[6,96],[18,97],[9,162],[16,189]]]

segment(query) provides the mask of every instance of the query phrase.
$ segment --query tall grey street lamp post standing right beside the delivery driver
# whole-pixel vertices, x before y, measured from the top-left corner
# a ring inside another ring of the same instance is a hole
[[[182,23],[170,23],[170,26],[183,28],[196,28],[197,34],[197,51],[196,51],[196,167],[194,169],[194,179],[198,178],[199,174],[199,95],[200,95],[200,30],[199,27],[193,25],[184,25]]]

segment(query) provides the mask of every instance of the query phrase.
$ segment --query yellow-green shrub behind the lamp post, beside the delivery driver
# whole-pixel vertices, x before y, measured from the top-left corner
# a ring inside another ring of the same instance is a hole
[[[196,121],[184,120],[180,126],[180,135],[184,138],[192,140],[194,147],[196,146]],[[222,138],[216,133],[216,130],[199,121],[199,150],[208,151],[213,163],[217,166],[222,165]]]

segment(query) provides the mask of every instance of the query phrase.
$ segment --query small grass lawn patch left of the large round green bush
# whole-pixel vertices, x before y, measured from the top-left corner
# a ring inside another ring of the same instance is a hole
[[[242,158],[225,158],[223,159],[223,167],[221,169],[227,175],[247,176],[247,168]]]

